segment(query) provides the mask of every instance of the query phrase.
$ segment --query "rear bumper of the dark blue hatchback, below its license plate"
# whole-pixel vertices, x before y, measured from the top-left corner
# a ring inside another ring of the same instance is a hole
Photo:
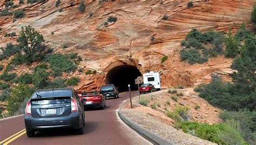
[[[34,118],[32,115],[24,117],[26,131],[38,131],[46,128],[81,128],[82,118],[79,112],[72,112],[66,116]]]

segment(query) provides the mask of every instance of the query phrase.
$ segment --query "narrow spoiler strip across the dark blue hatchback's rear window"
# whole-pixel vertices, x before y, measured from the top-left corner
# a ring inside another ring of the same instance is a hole
[[[46,104],[68,104],[71,102],[71,98],[69,99],[45,99],[45,100],[31,100],[32,105],[46,105]]]

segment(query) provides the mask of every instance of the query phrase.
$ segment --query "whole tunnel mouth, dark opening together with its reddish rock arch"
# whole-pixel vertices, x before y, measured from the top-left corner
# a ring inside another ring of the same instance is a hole
[[[127,85],[131,85],[131,90],[138,89],[134,79],[142,76],[141,65],[136,59],[116,60],[109,64],[103,71],[105,75],[105,84],[114,84],[119,91],[127,91]]]

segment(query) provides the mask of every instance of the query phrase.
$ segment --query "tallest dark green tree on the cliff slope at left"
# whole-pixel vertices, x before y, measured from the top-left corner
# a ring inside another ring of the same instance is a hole
[[[44,42],[44,37],[39,34],[31,26],[22,27],[22,31],[19,32],[20,36],[17,41],[20,42],[19,46],[25,53],[24,60],[26,63],[32,63],[40,58],[44,47],[42,42]]]

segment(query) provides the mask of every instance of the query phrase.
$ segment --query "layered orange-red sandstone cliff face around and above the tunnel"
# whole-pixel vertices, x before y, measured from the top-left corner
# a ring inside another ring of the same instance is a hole
[[[18,0],[14,2],[18,4]],[[0,47],[7,42],[17,43],[14,37],[4,37],[4,33],[14,31],[18,34],[21,26],[31,25],[44,35],[46,45],[55,52],[77,52],[85,68],[102,72],[96,76],[75,74],[82,77],[82,83],[77,86],[79,91],[97,89],[104,84],[107,71],[111,69],[109,66],[117,60],[129,63],[136,60],[133,65],[141,73],[159,71],[162,86],[192,86],[208,82],[215,71],[230,81],[232,60],[219,56],[208,63],[190,66],[179,60],[180,40],[191,28],[224,32],[231,27],[236,31],[242,21],[250,23],[255,1],[194,1],[191,9],[187,8],[187,2],[86,0],[84,13],[77,8],[80,1],[63,0],[58,8],[53,0],[23,4],[15,9],[23,8],[24,18],[12,23],[12,16],[0,17]],[[4,2],[1,1],[0,5],[2,11]],[[164,14],[168,16],[167,20],[162,19]],[[109,16],[117,17],[117,21],[105,23]],[[68,48],[62,49],[64,44]],[[164,55],[169,59],[161,64]]]

